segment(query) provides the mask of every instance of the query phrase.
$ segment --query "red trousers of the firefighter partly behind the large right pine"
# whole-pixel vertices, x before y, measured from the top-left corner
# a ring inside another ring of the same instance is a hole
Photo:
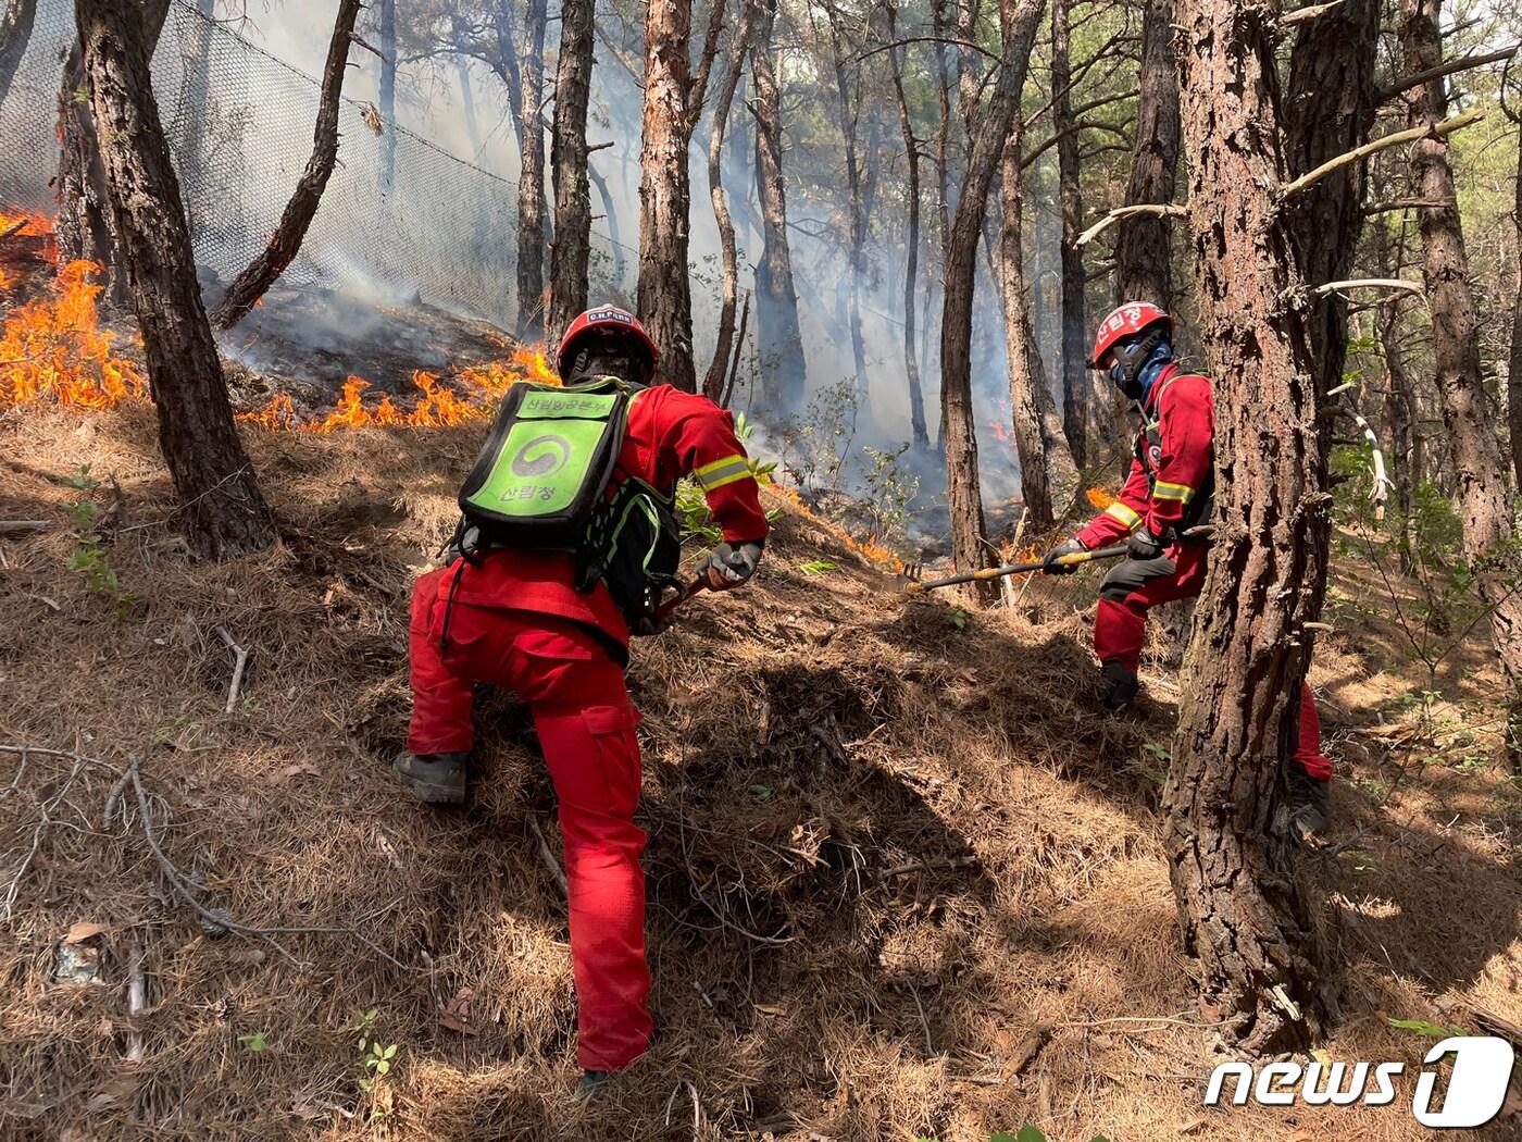
[[[1205,583],[1205,554],[1204,544],[1175,544],[1160,559],[1126,559],[1105,576],[1094,615],[1094,653],[1100,662],[1120,662],[1135,673],[1146,612],[1161,603],[1195,598]],[[1332,778],[1332,761],[1321,752],[1321,717],[1309,685],[1300,691],[1295,760],[1317,781]]]

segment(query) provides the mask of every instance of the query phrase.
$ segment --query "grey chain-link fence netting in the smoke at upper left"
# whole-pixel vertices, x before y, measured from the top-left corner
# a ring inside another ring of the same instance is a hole
[[[73,5],[38,0],[0,105],[0,210],[56,206],[59,100],[82,97],[61,91],[75,40]],[[306,166],[318,81],[174,0],[154,55],[154,91],[196,260],[228,282],[263,248]],[[380,123],[355,99],[344,99],[339,131],[338,166],[283,282],[417,297],[514,327],[517,184]],[[635,251],[594,231],[591,295],[632,305],[636,262]],[[696,294],[708,288],[694,280]]]

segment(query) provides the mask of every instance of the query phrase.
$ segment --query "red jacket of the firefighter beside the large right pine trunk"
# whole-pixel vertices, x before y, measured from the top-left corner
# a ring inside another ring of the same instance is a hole
[[[1216,422],[1210,381],[1169,364],[1148,393],[1143,413],[1137,455],[1120,498],[1078,533],[1090,550],[1125,539],[1143,524],[1155,536],[1169,528],[1181,531],[1210,496]]]

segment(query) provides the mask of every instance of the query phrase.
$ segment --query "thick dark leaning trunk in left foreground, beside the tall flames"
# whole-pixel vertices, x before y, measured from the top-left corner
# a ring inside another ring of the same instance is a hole
[[[180,183],[154,104],[142,9],[78,0],[75,12],[122,263],[143,330],[158,443],[186,530],[213,557],[268,547],[274,518],[237,439],[201,308]]]

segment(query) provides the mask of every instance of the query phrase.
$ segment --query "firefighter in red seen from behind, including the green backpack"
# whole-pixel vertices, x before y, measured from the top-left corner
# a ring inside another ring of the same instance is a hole
[[[412,594],[411,754],[396,770],[416,795],[464,801],[472,682],[513,690],[534,719],[565,842],[578,1095],[650,1040],[639,716],[624,667],[630,633],[656,633],[661,594],[677,586],[676,481],[696,477],[723,528],[700,568],[708,588],[750,579],[767,536],[731,416],[651,385],[656,361],[622,309],[575,318],[556,361],[565,387],[508,390],[460,492],[457,557]]]

